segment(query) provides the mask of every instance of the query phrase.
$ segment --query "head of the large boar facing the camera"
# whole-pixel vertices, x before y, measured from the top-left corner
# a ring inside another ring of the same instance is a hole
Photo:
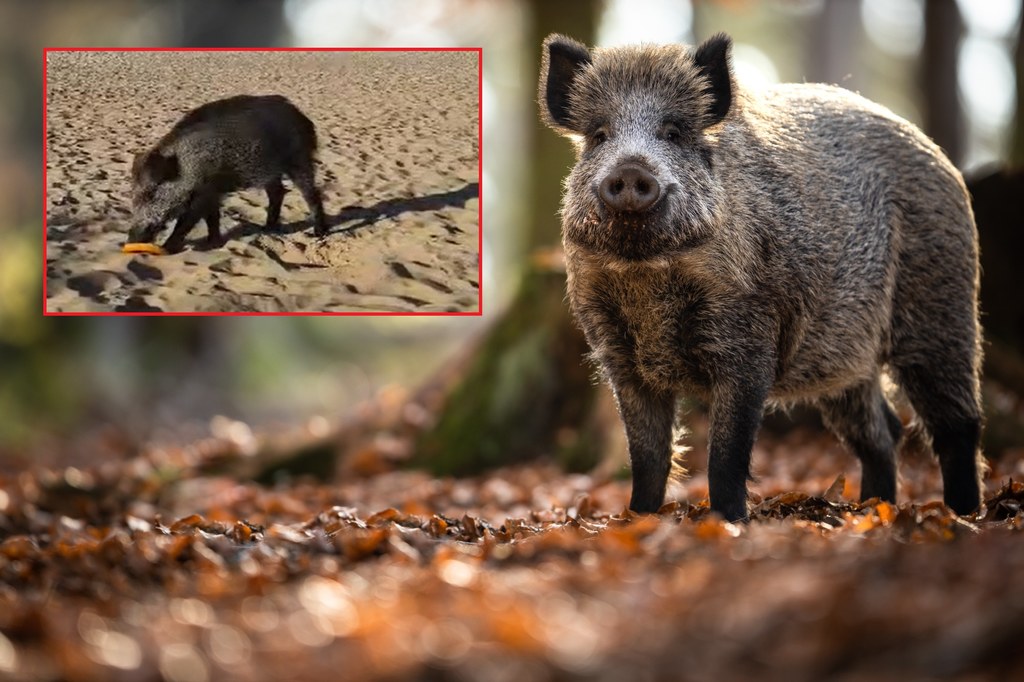
[[[541,117],[577,147],[563,239],[641,260],[710,237],[725,203],[714,156],[733,104],[730,45],[722,34],[696,48],[545,40]]]

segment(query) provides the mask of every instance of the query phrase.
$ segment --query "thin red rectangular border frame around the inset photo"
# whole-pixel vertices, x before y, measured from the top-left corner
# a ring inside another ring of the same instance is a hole
[[[49,52],[476,52],[477,63],[477,282],[479,293],[477,309],[461,312],[415,312],[415,311],[370,311],[370,312],[56,312],[46,307],[46,93],[47,54]],[[243,316],[280,317],[302,315],[327,316],[402,316],[402,317],[478,317],[483,314],[483,48],[482,47],[44,47],[43,48],[43,315],[55,317],[182,317],[182,316]]]

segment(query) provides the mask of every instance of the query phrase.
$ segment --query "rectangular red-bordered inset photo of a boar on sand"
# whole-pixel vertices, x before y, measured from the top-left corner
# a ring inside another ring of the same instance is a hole
[[[45,314],[479,314],[481,50],[44,50]]]

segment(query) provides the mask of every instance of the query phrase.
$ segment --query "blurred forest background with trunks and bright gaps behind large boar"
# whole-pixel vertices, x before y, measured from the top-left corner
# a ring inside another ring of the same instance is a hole
[[[988,449],[1019,446],[1024,195],[1021,175],[999,169],[1024,166],[1022,4],[0,0],[0,464],[45,463],[55,444],[86,447],[112,432],[136,442],[183,441],[208,432],[214,415],[258,429],[337,423],[383,387],[427,381],[474,342],[482,344],[476,365],[452,393],[469,414],[454,418],[445,447],[460,440],[486,451],[486,435],[465,425],[488,419],[490,445],[501,446],[507,433],[497,422],[528,424],[539,410],[560,406],[552,372],[572,375],[588,392],[590,370],[567,327],[557,258],[547,257],[571,164],[569,145],[541,127],[535,103],[540,43],[551,31],[597,45],[694,43],[726,31],[741,80],[838,83],[923,126],[984,195],[986,372],[994,379]],[[42,317],[42,48],[140,45],[482,46],[482,318]],[[538,253],[544,257],[530,257]],[[536,341],[539,327],[559,331],[532,350],[516,344]],[[524,360],[528,352],[545,359]],[[529,397],[538,395],[547,397]],[[579,422],[589,407],[578,408],[559,419]],[[548,436],[559,427],[548,426]],[[525,431],[534,454],[544,454],[544,438]]]

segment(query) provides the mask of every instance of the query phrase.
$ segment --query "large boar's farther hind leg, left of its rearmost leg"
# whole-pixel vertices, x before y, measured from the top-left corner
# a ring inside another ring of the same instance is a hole
[[[860,460],[860,499],[896,502],[896,442],[903,430],[878,378],[820,400],[825,424]]]

